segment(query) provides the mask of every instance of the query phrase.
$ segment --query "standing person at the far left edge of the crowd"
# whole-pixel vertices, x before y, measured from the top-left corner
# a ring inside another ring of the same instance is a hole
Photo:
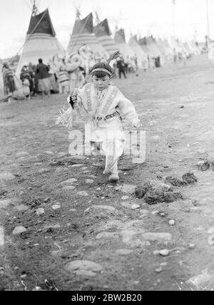
[[[14,91],[16,91],[16,85],[14,81],[14,73],[9,68],[8,63],[4,63],[2,67],[2,74],[4,79],[4,95],[8,96],[8,102],[11,103]]]

